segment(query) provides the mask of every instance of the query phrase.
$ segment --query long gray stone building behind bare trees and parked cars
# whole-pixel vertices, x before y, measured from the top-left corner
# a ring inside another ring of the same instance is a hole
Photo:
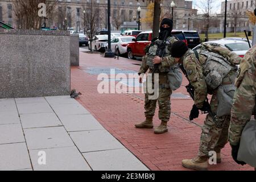
[[[10,24],[15,28],[19,28],[18,19],[14,13],[13,2],[15,0],[0,0],[0,20]],[[107,0],[57,0],[56,10],[52,17],[48,17],[47,26],[55,29],[63,29],[64,26],[72,27],[73,30],[84,30],[84,16],[90,11],[91,1],[93,8],[96,8],[98,18],[96,19],[97,28],[99,30],[107,27]],[[188,27],[193,28],[191,20],[197,14],[197,10],[192,9],[192,1],[176,0],[174,8],[174,28],[187,30]],[[112,30],[120,31],[122,29],[138,28],[138,6],[141,7],[141,18],[144,18],[147,0],[112,0],[111,1],[111,22]],[[162,13],[171,18],[170,0],[164,0],[161,5]],[[84,14],[85,11],[85,14]],[[64,14],[64,15],[61,15]],[[190,19],[190,20],[189,20]],[[115,21],[120,20],[121,24],[115,26]],[[141,30],[150,30],[147,23],[141,23]]]

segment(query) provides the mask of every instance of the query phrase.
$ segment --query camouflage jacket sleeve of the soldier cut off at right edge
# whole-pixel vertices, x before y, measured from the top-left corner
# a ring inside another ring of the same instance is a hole
[[[242,130],[253,115],[256,94],[255,67],[256,45],[243,57],[237,72],[237,90],[234,94],[229,127],[229,142],[234,146],[240,143]]]

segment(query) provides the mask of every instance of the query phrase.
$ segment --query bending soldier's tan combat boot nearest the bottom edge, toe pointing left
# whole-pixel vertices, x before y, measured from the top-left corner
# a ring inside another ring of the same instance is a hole
[[[196,157],[195,159],[184,159],[182,160],[182,166],[189,169],[196,169],[199,171],[207,171],[208,158],[207,157]]]

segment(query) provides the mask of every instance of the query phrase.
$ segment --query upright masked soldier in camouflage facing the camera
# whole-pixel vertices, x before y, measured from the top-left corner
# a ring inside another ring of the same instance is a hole
[[[167,122],[170,120],[170,114],[171,114],[171,102],[170,97],[172,94],[172,90],[168,84],[168,72],[170,71],[170,67],[172,66],[170,62],[167,61],[166,56],[170,55],[171,46],[172,43],[177,41],[173,36],[171,36],[172,31],[172,20],[170,19],[163,19],[161,26],[160,26],[160,34],[159,38],[156,40],[152,40],[152,43],[150,46],[146,47],[146,55],[142,57],[142,65],[139,69],[139,82],[142,83],[142,78],[144,76],[144,73],[147,72],[151,73],[152,75],[158,74],[159,75],[159,95],[157,99],[150,99],[148,98],[151,94],[149,94],[147,91],[145,93],[145,101],[144,101],[144,115],[146,117],[146,120],[142,123],[135,124],[135,127],[137,128],[148,128],[152,129],[153,123],[152,118],[155,115],[155,109],[156,109],[156,102],[158,102],[159,105],[159,119],[162,121],[160,126],[158,126],[155,130],[155,134],[162,134],[168,131],[167,129]],[[165,48],[165,56],[159,57],[156,56],[156,52],[158,49],[158,46],[164,38],[167,37],[167,44]],[[162,62],[162,63],[161,63]],[[159,64],[160,63],[160,64]],[[158,70],[155,70],[154,64],[159,64]],[[148,80],[148,77],[147,77]],[[152,87],[154,88],[154,76],[152,76]],[[155,89],[154,89],[155,90]]]

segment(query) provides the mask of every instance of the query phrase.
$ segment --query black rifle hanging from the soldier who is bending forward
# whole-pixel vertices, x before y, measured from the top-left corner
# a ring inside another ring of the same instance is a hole
[[[182,64],[179,65],[181,71],[184,73],[185,77],[187,78],[189,84],[187,86],[185,86],[185,88],[187,89],[187,92],[189,93],[189,95],[191,96],[191,98],[193,99],[193,101],[195,101],[195,88],[191,85],[191,82],[189,81],[187,72],[185,71],[184,67]],[[198,109],[198,108],[197,108]],[[204,101],[204,105],[203,108],[200,109],[202,111],[202,114],[209,114],[210,117],[213,118],[213,121],[216,123],[217,127],[221,127],[222,125],[220,123],[218,123],[214,117],[214,114],[212,113],[212,110],[210,109],[210,104],[209,104],[209,100],[208,98],[206,98],[206,100]],[[192,121],[193,119],[195,119],[197,117],[194,118],[190,118],[189,120]]]

